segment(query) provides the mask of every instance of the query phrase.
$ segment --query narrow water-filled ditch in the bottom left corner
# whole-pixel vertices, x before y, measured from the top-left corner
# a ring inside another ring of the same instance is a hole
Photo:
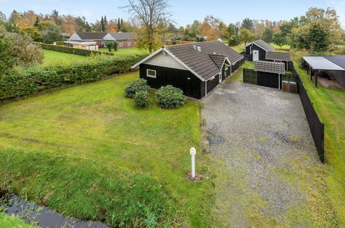
[[[39,227],[99,227],[108,228],[102,222],[78,220],[77,218],[66,218],[59,213],[26,201],[16,195],[8,196],[8,193],[0,189],[0,206],[6,207],[5,212],[9,216],[17,216],[27,223],[33,223]]]

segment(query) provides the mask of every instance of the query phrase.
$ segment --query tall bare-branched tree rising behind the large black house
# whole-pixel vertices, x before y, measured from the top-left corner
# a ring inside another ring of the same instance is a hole
[[[155,33],[158,24],[161,21],[171,22],[172,14],[169,7],[167,0],[129,0],[129,4],[122,7],[131,14],[133,21],[137,21],[144,28],[142,39],[145,39],[144,43],[150,52],[157,44]]]

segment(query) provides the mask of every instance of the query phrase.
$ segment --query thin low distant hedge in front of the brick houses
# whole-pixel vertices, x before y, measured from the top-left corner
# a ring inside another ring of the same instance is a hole
[[[54,44],[42,44],[42,43],[36,43],[36,44],[41,46],[42,49],[55,50],[59,53],[68,53],[68,54],[73,54],[73,55],[84,55],[84,56],[90,56],[92,54],[115,55],[115,53],[108,53],[108,52],[100,51],[100,50],[71,48],[67,46],[57,46]]]

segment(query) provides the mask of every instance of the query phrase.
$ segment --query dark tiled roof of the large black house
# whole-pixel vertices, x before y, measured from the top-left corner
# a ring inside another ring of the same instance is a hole
[[[201,51],[198,51],[197,48],[195,50],[193,46],[200,47]],[[212,59],[210,55],[226,56],[231,64],[243,59],[243,55],[232,50],[221,41],[165,46],[165,48],[205,80],[220,72],[214,61],[216,57]]]

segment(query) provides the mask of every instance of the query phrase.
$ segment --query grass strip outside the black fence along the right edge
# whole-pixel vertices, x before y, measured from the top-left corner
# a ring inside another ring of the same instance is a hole
[[[295,62],[295,66],[297,62]],[[338,217],[338,227],[345,225],[345,91],[324,88],[310,81],[306,70],[297,68],[303,84],[314,103],[317,115],[325,124],[325,157],[328,171],[328,198]]]

